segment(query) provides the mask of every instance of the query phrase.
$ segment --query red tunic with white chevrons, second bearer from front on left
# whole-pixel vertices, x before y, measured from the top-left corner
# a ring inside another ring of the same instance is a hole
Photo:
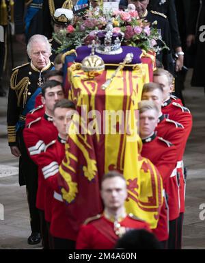
[[[23,130],[23,136],[28,153],[37,165],[39,165],[39,155],[44,152],[44,149],[51,140],[57,138],[57,129],[53,125],[53,118],[44,114],[44,117],[38,117],[35,121],[31,121]],[[40,167],[38,167],[38,191],[36,197],[36,207],[40,210],[45,210],[44,207],[44,177]],[[51,214],[45,210],[46,221],[51,220]]]

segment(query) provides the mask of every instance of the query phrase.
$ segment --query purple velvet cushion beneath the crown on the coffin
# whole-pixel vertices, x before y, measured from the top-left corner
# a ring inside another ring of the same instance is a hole
[[[118,55],[104,55],[95,52],[96,55],[98,55],[105,64],[120,64],[123,62],[124,58],[126,57],[127,53],[133,53],[133,61],[130,64],[139,64],[141,63],[141,49],[138,47],[129,47],[129,46],[121,46],[122,47],[122,53]],[[77,63],[81,63],[83,58],[87,57],[87,55],[90,55],[91,48],[87,46],[82,46],[77,48],[77,58],[74,60]]]

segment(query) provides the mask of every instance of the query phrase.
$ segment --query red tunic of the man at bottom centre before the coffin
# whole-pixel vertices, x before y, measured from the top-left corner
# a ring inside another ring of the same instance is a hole
[[[99,215],[100,216],[100,215]],[[148,223],[126,216],[121,222],[121,227],[128,229],[150,230]],[[87,225],[81,225],[77,237],[77,249],[113,249],[119,236],[115,234],[114,224],[105,216],[95,218]]]

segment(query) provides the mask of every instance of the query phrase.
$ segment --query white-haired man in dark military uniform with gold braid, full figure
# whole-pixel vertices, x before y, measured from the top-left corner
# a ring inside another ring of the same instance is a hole
[[[8,95],[8,143],[11,152],[19,159],[19,184],[27,186],[31,231],[29,244],[40,242],[40,221],[36,210],[38,168],[27,155],[23,140],[25,116],[34,108],[36,96],[41,91],[44,75],[51,70],[49,60],[51,45],[45,36],[34,35],[29,39],[27,53],[31,62],[14,68]],[[33,234],[34,233],[34,234]]]

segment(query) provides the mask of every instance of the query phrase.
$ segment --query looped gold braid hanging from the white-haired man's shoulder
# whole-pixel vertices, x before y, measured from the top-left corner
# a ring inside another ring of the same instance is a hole
[[[11,87],[12,90],[15,90],[15,92],[16,92],[18,107],[20,107],[20,98],[21,98],[21,96],[23,94],[23,108],[24,108],[25,107],[25,103],[27,101],[29,77],[23,77],[23,79],[20,79],[20,82],[18,82],[18,84],[16,84],[17,75],[18,75],[18,69],[16,69],[16,71],[14,71],[12,73],[12,76],[11,76],[11,79],[10,79],[10,87]]]

